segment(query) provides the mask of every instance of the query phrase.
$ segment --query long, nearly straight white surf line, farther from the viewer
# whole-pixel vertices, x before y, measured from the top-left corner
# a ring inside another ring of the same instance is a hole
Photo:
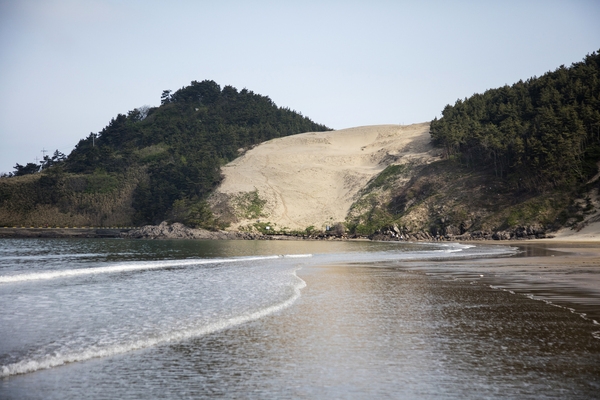
[[[306,257],[312,257],[312,254],[284,254],[284,255],[262,256],[262,257],[197,259],[197,260],[169,260],[169,261],[156,261],[156,262],[135,263],[135,264],[118,264],[118,265],[112,265],[112,266],[107,266],[107,267],[78,268],[78,269],[61,270],[61,271],[38,272],[38,273],[33,273],[33,274],[4,275],[4,276],[0,276],[0,284],[25,282],[25,281],[36,281],[36,280],[48,280],[48,279],[74,277],[74,276],[81,276],[81,275],[93,275],[93,274],[129,272],[129,271],[143,271],[143,270],[149,270],[149,269],[161,269],[161,268],[169,268],[169,267],[184,267],[184,266],[188,266],[188,265],[207,265],[207,264],[274,260],[274,259],[278,259],[278,258],[306,258]]]

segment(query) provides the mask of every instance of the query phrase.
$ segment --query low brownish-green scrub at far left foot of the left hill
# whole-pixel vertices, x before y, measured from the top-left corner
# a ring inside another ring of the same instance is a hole
[[[0,226],[130,226],[133,192],[145,179],[142,167],[89,175],[53,167],[0,179]]]

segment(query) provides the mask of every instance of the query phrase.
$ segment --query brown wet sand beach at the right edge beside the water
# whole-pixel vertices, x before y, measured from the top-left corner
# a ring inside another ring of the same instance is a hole
[[[473,244],[514,246],[519,254],[507,258],[419,262],[410,268],[515,292],[566,307],[600,323],[600,243],[539,240]]]

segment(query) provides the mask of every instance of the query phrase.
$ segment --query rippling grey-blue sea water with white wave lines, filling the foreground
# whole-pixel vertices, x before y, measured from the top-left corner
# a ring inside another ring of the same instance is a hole
[[[3,239],[0,398],[598,398],[600,296],[528,292],[516,254]]]

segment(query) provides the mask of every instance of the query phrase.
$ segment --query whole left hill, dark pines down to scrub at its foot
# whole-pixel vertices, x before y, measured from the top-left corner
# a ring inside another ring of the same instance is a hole
[[[194,81],[175,92],[165,90],[160,107],[141,107],[117,115],[101,132],[80,140],[66,159],[47,157],[42,162],[45,170],[32,174],[42,176],[41,182],[29,179],[27,185],[23,183],[25,186],[15,190],[8,184],[14,178],[2,179],[5,185],[0,185],[0,203],[4,204],[0,207],[4,216],[14,216],[15,221],[0,215],[0,223],[54,224],[42,221],[47,212],[37,213],[35,220],[28,217],[44,205],[58,207],[63,218],[89,216],[72,218],[65,224],[107,224],[101,216],[92,216],[98,213],[91,205],[96,200],[90,203],[82,199],[109,192],[127,197],[125,186],[130,187],[129,197],[133,196],[129,201],[133,211],[129,216],[121,212],[119,223],[160,222],[172,216],[174,206],[188,216],[191,210],[197,218],[206,219],[209,216],[203,199],[219,183],[222,165],[263,141],[324,130],[328,128],[278,107],[266,96],[231,86],[221,89],[213,81]],[[15,175],[37,171],[32,166],[27,169],[17,164]],[[127,176],[136,178],[124,183]],[[30,195],[23,196],[24,192]],[[114,208],[107,206],[106,214],[115,214]],[[11,220],[1,220],[6,218]]]

